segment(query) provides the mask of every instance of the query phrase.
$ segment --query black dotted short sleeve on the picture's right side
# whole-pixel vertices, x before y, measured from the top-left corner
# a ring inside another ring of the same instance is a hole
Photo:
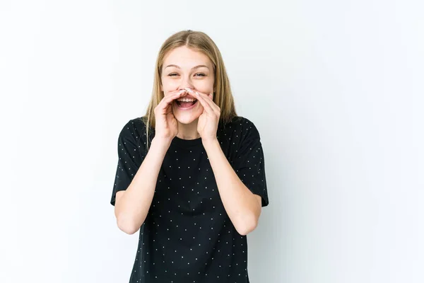
[[[269,204],[266,188],[264,151],[257,128],[252,122],[245,124],[244,137],[235,156],[234,168],[240,180],[255,195],[262,198],[262,207]]]

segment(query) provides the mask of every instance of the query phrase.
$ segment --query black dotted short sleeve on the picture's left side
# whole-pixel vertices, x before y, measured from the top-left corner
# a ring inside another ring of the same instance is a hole
[[[139,170],[146,156],[146,144],[142,142],[143,131],[140,129],[142,122],[130,120],[122,128],[118,137],[118,164],[114,177],[112,198],[110,204],[115,204],[117,192],[126,190]],[[143,125],[143,124],[142,124]],[[145,129],[146,127],[143,127]],[[141,136],[141,137],[140,137]],[[144,137],[146,135],[144,134]]]

